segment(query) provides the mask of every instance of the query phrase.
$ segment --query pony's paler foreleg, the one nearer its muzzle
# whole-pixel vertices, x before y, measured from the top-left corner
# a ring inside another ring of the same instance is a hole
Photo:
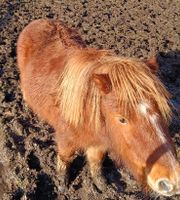
[[[101,147],[89,147],[86,155],[94,184],[100,191],[105,190],[106,180],[102,175],[102,162],[104,160],[105,150]]]

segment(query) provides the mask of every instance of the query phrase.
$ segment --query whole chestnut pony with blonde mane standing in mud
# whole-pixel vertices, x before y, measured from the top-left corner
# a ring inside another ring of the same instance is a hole
[[[17,55],[25,101],[55,129],[64,183],[72,156],[83,151],[103,190],[101,164],[109,152],[153,191],[180,193],[180,165],[168,134],[169,95],[156,76],[155,58],[88,48],[76,31],[45,19],[22,31]]]

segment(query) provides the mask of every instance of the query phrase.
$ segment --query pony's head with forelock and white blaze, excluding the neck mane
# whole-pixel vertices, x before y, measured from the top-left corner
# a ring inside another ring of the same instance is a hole
[[[142,183],[171,196],[180,192],[180,166],[168,134],[169,95],[147,64],[112,59],[94,81],[112,150]]]

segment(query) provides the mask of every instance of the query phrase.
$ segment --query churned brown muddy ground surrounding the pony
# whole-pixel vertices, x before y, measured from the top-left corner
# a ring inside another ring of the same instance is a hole
[[[158,55],[160,76],[176,110],[170,133],[180,157],[180,1],[179,0],[0,0],[0,199],[116,200],[159,199],[145,194],[125,170],[104,162],[107,191],[93,186],[85,159],[71,167],[65,191],[56,173],[53,129],[22,100],[16,63],[19,33],[33,19],[57,18],[76,28],[92,47],[121,56]]]

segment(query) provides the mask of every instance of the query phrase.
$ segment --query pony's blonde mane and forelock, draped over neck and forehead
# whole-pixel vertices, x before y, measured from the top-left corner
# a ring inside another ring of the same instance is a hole
[[[101,92],[91,80],[94,73],[109,75],[122,115],[130,117],[141,102],[152,100],[163,118],[170,118],[169,94],[142,61],[94,49],[72,50],[67,58],[58,81],[58,102],[63,118],[74,127],[85,121],[101,126]]]

